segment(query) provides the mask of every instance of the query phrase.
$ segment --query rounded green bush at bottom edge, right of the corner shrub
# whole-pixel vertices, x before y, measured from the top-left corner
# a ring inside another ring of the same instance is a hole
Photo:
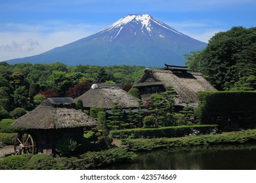
[[[24,167],[27,170],[51,170],[56,169],[56,161],[49,154],[36,154],[28,160]]]

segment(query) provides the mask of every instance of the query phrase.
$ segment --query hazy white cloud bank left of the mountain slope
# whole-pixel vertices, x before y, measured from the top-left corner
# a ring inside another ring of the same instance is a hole
[[[102,29],[97,25],[59,21],[44,22],[41,25],[9,23],[1,27],[0,61],[41,54]]]

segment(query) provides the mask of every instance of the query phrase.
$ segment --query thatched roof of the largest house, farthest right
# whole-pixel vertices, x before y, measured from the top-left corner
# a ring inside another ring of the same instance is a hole
[[[165,68],[164,68],[165,69]],[[183,69],[183,68],[182,68]],[[180,69],[181,70],[181,69]],[[189,69],[183,69],[184,71]],[[200,73],[175,73],[172,70],[145,69],[144,75],[133,85],[135,88],[172,85],[178,93],[176,103],[197,103],[197,92],[216,90]]]

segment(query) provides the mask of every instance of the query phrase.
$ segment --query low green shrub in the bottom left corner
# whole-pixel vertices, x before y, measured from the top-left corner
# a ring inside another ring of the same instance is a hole
[[[32,154],[22,154],[0,159],[0,170],[24,170],[32,156]]]

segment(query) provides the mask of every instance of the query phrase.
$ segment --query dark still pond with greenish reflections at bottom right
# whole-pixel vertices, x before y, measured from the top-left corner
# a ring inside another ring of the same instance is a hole
[[[256,170],[256,143],[186,146],[139,153],[118,170]]]

